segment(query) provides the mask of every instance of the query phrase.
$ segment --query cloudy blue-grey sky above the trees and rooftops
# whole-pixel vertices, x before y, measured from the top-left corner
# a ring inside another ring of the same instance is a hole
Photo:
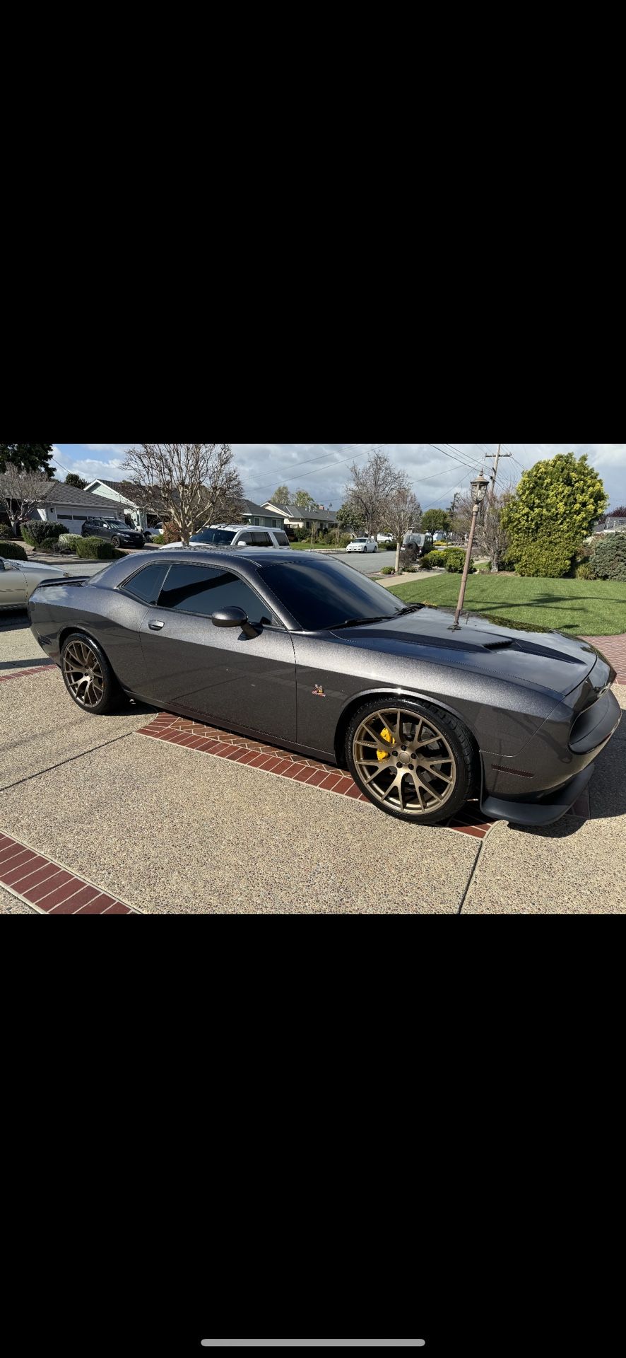
[[[58,443],[54,444],[60,479],[65,471],[94,479],[124,479],[126,443]],[[308,490],[318,504],[338,508],[349,479],[352,462],[363,466],[371,448],[380,448],[402,467],[422,509],[447,508],[455,490],[464,490],[474,471],[493,466],[486,454],[494,443],[234,443],[232,451],[242,474],[246,496],[263,504],[278,485],[289,490]],[[523,469],[534,462],[554,458],[557,452],[587,452],[600,473],[611,507],[626,504],[626,444],[623,443],[507,443],[502,451],[511,458],[500,462],[498,482],[517,481]]]

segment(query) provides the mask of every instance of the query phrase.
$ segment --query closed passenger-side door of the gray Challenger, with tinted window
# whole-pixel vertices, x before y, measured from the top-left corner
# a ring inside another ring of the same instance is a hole
[[[258,636],[215,626],[212,614],[234,606],[244,608]],[[292,640],[261,595],[232,569],[170,566],[140,636],[148,702],[276,741],[296,740]]]

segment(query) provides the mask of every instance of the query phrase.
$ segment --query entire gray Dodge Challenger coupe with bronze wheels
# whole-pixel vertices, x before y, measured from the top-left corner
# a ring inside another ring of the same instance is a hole
[[[349,767],[382,811],[558,820],[621,709],[603,656],[403,606],[346,562],[251,549],[160,550],[43,581],[33,631],[86,712],[122,694]]]

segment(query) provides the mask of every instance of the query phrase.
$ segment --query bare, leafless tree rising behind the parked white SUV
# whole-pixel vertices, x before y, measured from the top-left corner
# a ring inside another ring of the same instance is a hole
[[[140,443],[124,467],[152,501],[160,498],[185,543],[200,528],[240,517],[243,485],[228,443]]]

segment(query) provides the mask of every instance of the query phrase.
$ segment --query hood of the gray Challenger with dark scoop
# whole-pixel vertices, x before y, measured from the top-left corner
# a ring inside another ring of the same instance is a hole
[[[333,637],[364,650],[471,669],[557,697],[577,689],[597,660],[587,641],[559,631],[500,626],[475,614],[463,614],[454,629],[454,611],[445,608],[424,607],[384,622],[337,629]]]

